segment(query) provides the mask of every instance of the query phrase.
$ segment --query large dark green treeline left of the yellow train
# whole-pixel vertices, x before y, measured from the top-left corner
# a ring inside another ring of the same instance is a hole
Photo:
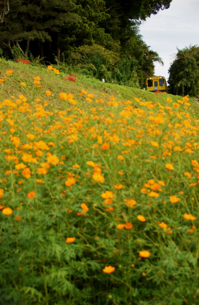
[[[3,56],[40,56],[41,63],[65,62],[81,73],[143,87],[153,75],[157,52],[138,26],[172,0],[2,0]]]

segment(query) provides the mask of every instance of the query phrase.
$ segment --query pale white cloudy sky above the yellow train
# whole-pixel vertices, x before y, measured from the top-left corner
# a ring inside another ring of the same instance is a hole
[[[199,0],[172,0],[169,9],[159,11],[142,23],[140,34],[150,49],[163,59],[164,67],[155,64],[155,75],[168,79],[176,47],[199,45]]]

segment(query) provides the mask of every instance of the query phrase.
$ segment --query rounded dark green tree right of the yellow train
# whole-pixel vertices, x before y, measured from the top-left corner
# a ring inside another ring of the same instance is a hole
[[[178,49],[169,74],[171,94],[196,96],[199,92],[199,46]]]

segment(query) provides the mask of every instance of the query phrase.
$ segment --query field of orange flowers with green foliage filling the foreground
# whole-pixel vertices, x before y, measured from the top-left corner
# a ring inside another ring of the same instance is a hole
[[[27,81],[42,86],[38,75]],[[1,99],[0,298],[197,304],[193,105],[77,94],[60,91],[56,110],[49,88]]]

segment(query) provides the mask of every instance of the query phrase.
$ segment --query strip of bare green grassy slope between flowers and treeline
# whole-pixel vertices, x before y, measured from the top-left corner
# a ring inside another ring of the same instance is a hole
[[[9,81],[5,80],[0,86],[0,96],[4,98],[9,98],[13,95],[13,91],[17,94],[24,94],[27,99],[33,99],[35,96],[45,95],[46,90],[51,90],[52,95],[49,98],[49,106],[59,107],[61,106],[59,93],[67,92],[73,93],[75,99],[81,101],[84,107],[84,99],[79,98],[79,92],[82,89],[88,91],[88,93],[94,93],[96,98],[101,97],[101,93],[104,93],[106,97],[104,100],[109,101],[109,96],[114,95],[116,100],[134,100],[134,97],[141,99],[143,102],[153,100],[154,103],[160,102],[164,104],[166,98],[170,97],[174,102],[181,99],[180,96],[169,95],[169,94],[159,94],[140,90],[137,88],[131,88],[126,86],[120,86],[109,83],[102,83],[94,78],[87,78],[82,75],[77,75],[77,81],[75,83],[71,81],[65,81],[63,76],[65,75],[60,71],[59,75],[56,75],[52,70],[49,71],[43,67],[29,66],[21,63],[14,63],[12,61],[0,60],[1,72],[0,77],[5,75],[6,70],[12,69],[13,74],[9,75]],[[41,78],[41,88],[33,85],[33,77],[39,76]],[[22,86],[20,81],[23,81],[27,86]],[[199,113],[199,105],[190,99],[191,107],[196,113]]]

